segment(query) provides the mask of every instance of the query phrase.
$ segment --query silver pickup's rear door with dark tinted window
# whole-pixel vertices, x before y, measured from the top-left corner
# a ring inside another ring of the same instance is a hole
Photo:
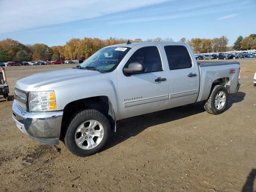
[[[199,93],[199,70],[187,44],[161,44],[167,61],[169,80],[168,108],[194,103]]]

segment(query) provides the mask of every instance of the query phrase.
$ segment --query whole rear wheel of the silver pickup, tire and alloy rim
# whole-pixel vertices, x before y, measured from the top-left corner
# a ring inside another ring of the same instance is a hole
[[[222,113],[228,103],[228,92],[222,85],[216,85],[212,89],[208,100],[204,104],[204,109],[211,114]]]

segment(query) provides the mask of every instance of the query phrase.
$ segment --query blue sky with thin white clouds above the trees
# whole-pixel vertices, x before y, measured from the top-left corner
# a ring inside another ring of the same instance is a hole
[[[256,33],[256,0],[0,0],[0,40],[64,45],[71,38],[135,39]]]

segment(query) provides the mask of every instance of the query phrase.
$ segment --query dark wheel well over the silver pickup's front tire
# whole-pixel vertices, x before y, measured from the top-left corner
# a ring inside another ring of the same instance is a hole
[[[75,114],[86,109],[98,110],[104,114],[108,118],[111,128],[116,132],[115,112],[110,98],[108,96],[94,96],[72,101],[64,107],[60,131],[61,141],[64,141],[68,124],[72,121]]]

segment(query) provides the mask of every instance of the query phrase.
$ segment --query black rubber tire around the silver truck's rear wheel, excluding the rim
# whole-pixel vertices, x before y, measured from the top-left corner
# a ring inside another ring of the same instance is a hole
[[[220,91],[224,92],[224,94],[225,94],[225,103],[221,109],[217,109],[215,107],[215,98]],[[225,110],[227,103],[228,103],[228,92],[227,92],[226,88],[222,85],[216,85],[212,89],[208,100],[206,100],[206,103],[204,104],[204,109],[210,114],[217,115],[217,114],[222,113]]]

